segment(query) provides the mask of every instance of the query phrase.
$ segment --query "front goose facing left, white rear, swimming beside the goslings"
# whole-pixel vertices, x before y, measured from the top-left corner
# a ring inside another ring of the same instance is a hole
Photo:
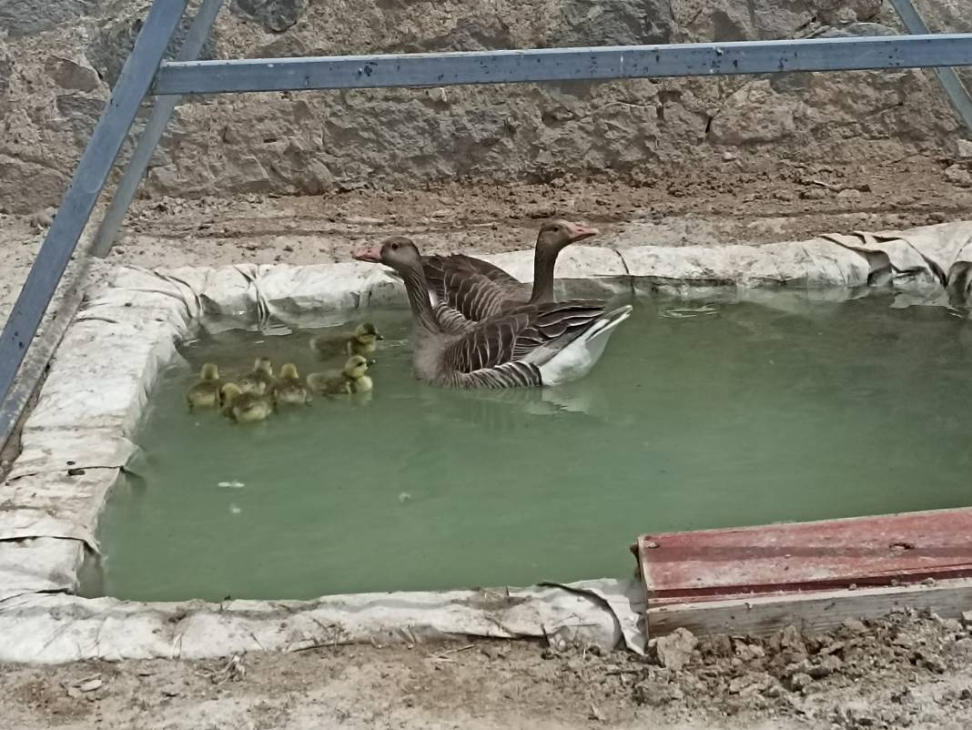
[[[465,332],[448,332],[435,317],[422,258],[411,240],[393,236],[354,258],[383,263],[401,277],[412,310],[416,374],[438,386],[518,388],[576,380],[597,363],[610,333],[632,309],[627,304],[606,312],[604,302],[585,299],[528,303]]]

